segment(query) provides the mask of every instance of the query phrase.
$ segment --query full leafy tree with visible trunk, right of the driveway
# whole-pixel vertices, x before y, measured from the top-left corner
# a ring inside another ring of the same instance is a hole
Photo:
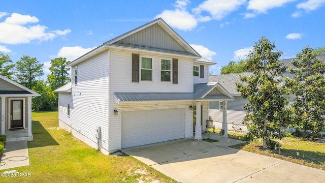
[[[290,112],[285,108],[289,94],[287,87],[281,86],[281,76],[285,68],[278,62],[281,51],[273,51],[274,43],[262,37],[248,54],[245,68],[252,70],[251,76],[240,76],[237,90],[249,103],[243,123],[255,137],[263,138],[263,148],[272,138],[282,138],[282,126],[286,126]]]

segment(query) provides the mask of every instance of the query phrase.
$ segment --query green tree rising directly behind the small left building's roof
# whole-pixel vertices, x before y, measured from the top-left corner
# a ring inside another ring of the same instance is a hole
[[[27,55],[24,55],[16,62],[16,73],[17,81],[31,89],[36,84],[36,80],[43,76],[43,64],[39,64],[39,61],[36,58],[30,58]]]

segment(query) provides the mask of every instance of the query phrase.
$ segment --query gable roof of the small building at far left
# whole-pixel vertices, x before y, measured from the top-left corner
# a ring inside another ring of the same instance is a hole
[[[15,81],[6,78],[5,76],[0,75],[0,79],[14,85],[17,86],[19,88],[19,90],[8,90],[8,89],[4,89],[0,86],[0,97],[4,96],[4,97],[39,97],[41,96],[40,94],[34,92],[33,90],[16,83]]]

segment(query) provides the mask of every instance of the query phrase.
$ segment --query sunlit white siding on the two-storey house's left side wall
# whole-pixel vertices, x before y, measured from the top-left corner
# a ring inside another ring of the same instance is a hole
[[[73,103],[70,104],[70,118],[63,118],[69,120],[76,131],[95,143],[97,143],[95,130],[101,127],[102,147],[107,150],[109,139],[108,63],[109,53],[103,52],[78,65],[78,82],[72,84]],[[74,80],[74,67],[72,71]],[[64,105],[67,107],[68,104]],[[62,110],[66,109],[62,108]],[[63,114],[67,114],[67,111],[64,111]]]

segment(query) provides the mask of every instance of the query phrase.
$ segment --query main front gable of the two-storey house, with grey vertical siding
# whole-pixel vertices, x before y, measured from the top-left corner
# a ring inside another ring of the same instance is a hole
[[[201,55],[183,40],[163,19],[158,18],[138,28],[122,34],[69,63],[73,67],[86,59],[104,52],[110,48],[132,51],[159,52],[177,54],[193,59],[200,59]]]

